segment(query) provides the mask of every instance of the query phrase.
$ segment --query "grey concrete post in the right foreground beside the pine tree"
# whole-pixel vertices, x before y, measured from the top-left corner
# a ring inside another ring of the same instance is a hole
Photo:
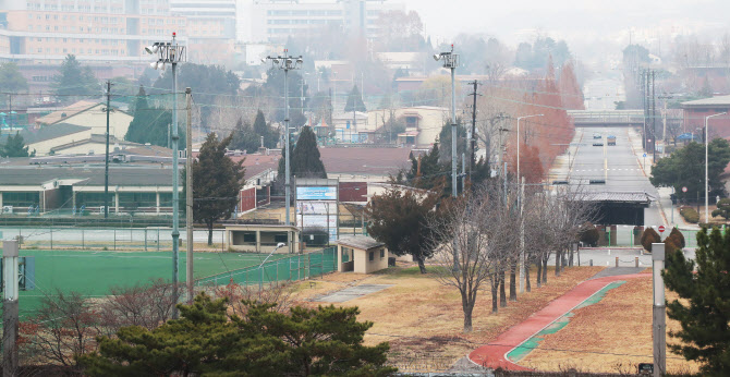
[[[654,377],[664,376],[667,369],[667,325],[665,307],[665,282],[661,271],[665,269],[665,244],[652,244],[652,281],[654,288],[653,343]]]

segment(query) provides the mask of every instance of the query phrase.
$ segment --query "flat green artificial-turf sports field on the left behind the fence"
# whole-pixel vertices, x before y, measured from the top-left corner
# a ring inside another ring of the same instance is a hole
[[[36,289],[22,291],[21,316],[33,315],[40,297],[76,291],[89,296],[104,296],[112,287],[146,283],[150,279],[172,280],[171,252],[66,252],[22,250],[21,256],[33,256],[36,263]],[[272,255],[270,260],[289,255]],[[223,273],[251,266],[258,266],[265,254],[195,253],[194,276],[196,279]],[[180,253],[179,279],[185,281],[185,253]],[[226,281],[221,281],[226,283]]]

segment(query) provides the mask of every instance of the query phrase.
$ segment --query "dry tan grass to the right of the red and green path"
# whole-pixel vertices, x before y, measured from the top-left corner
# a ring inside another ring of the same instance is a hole
[[[667,292],[667,299],[677,295]],[[638,278],[608,291],[591,306],[574,312],[560,331],[548,335],[520,365],[539,370],[589,366],[595,373],[636,372],[652,363],[652,278]],[[667,318],[668,330],[680,325]],[[667,333],[667,342],[676,342]],[[667,372],[698,372],[696,363],[667,350]]]

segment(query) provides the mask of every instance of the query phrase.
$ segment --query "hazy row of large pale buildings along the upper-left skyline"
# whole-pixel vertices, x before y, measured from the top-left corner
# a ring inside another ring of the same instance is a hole
[[[375,38],[378,15],[403,9],[365,0],[0,0],[0,61],[58,65],[74,54],[93,68],[113,63],[99,78],[131,75],[146,62],[145,46],[177,32],[192,62],[258,64],[290,36],[325,27]],[[32,84],[50,81],[44,72],[52,70],[29,74]]]

